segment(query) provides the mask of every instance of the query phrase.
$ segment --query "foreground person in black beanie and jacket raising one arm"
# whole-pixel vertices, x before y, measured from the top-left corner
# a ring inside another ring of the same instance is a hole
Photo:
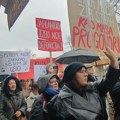
[[[83,63],[71,63],[65,68],[65,85],[47,105],[52,120],[105,120],[101,97],[114,86],[120,76],[113,51],[106,48],[105,54],[111,63],[105,80],[99,84],[88,84],[88,74]]]

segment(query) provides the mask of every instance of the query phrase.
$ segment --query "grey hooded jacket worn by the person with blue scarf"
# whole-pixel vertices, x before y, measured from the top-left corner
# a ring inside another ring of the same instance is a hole
[[[34,101],[32,105],[30,120],[50,120],[48,118],[47,112],[46,112],[46,103],[53,97],[49,94],[47,94],[44,90],[48,86],[48,83],[50,79],[56,76],[58,81],[60,81],[59,77],[54,74],[47,74],[43,77],[40,77],[37,81],[38,87],[42,94],[40,94]]]

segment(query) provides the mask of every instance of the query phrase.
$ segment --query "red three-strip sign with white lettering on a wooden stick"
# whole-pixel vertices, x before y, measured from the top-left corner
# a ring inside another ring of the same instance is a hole
[[[36,18],[38,49],[43,51],[62,51],[62,32],[60,21]]]

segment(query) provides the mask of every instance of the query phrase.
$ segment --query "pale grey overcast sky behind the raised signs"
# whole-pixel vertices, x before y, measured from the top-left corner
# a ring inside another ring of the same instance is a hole
[[[0,8],[0,51],[30,49],[40,57],[49,57],[48,52],[38,50],[35,18],[61,21],[63,42],[70,35],[66,0],[30,0],[14,23],[8,29],[7,15],[4,7]],[[53,53],[57,57],[63,52]]]

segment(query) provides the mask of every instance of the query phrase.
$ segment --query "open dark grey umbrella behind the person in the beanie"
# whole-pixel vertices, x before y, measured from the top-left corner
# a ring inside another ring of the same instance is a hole
[[[99,56],[88,50],[71,50],[59,56],[55,61],[60,64],[69,64],[71,62],[92,63],[100,60]]]

